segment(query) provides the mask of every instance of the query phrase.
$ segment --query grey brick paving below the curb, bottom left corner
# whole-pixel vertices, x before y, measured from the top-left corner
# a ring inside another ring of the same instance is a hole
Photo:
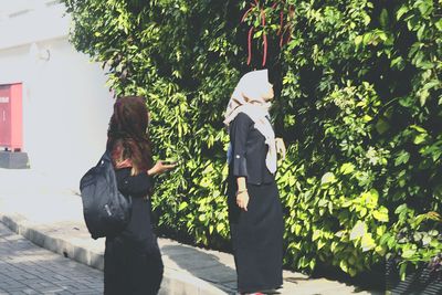
[[[39,247],[0,223],[0,294],[62,292],[103,293],[103,272]]]

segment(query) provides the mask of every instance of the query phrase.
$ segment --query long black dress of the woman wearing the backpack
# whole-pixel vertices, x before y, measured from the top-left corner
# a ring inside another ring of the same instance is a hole
[[[106,238],[104,253],[105,295],[155,295],[164,265],[151,225],[151,204],[146,198],[151,182],[147,173],[130,176],[130,169],[116,171],[118,189],[133,196],[131,217],[127,228]]]

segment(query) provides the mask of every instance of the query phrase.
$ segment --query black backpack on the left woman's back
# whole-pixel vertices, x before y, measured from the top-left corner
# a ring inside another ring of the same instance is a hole
[[[131,198],[118,191],[108,151],[82,177],[80,191],[84,220],[93,239],[115,236],[126,228],[130,220]]]

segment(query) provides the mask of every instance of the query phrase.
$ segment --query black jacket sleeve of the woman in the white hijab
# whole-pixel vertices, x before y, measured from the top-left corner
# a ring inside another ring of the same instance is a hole
[[[250,127],[253,124],[248,115],[240,113],[230,124],[230,143],[232,144],[233,176],[248,177],[246,143]]]

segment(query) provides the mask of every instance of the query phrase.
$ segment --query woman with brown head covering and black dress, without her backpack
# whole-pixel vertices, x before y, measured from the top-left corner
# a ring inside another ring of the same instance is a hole
[[[175,165],[152,164],[148,135],[149,113],[144,97],[120,97],[114,105],[107,131],[118,190],[131,197],[131,217],[117,236],[106,238],[104,293],[157,294],[162,280],[162,260],[151,225],[154,175]]]

